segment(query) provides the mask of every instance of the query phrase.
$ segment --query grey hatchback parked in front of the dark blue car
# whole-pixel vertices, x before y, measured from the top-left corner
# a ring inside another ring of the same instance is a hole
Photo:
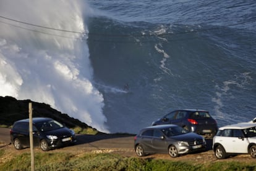
[[[140,157],[149,153],[168,153],[177,157],[192,151],[204,151],[206,141],[201,135],[178,125],[156,125],[140,130],[134,137],[134,149]]]

